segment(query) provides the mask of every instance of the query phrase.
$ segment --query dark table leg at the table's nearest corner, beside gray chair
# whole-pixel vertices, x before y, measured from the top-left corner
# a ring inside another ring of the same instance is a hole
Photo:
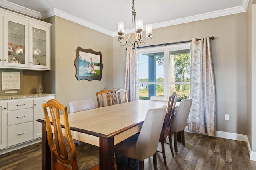
[[[114,137],[100,137],[100,170],[114,170]]]

